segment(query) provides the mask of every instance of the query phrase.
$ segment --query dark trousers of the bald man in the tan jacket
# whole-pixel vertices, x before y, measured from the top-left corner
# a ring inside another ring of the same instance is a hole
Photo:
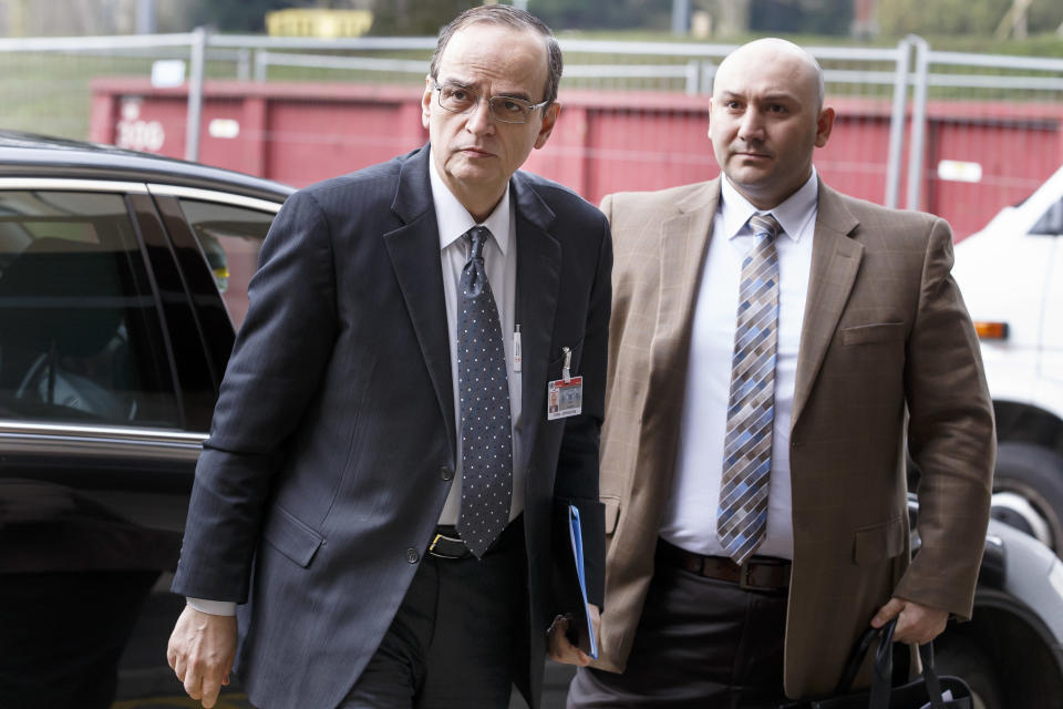
[[[785,590],[745,590],[659,559],[627,670],[580,668],[568,709],[777,707],[785,631]]]

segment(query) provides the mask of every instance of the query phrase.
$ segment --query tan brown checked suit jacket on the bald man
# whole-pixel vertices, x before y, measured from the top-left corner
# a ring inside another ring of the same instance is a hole
[[[601,659],[623,669],[671,492],[694,304],[719,178],[606,197],[615,244],[601,499]],[[791,697],[834,689],[899,596],[969,617],[989,516],[993,417],[942,219],[821,183],[791,423]],[[909,564],[904,440],[922,471]],[[715,510],[705,510],[715,514]]]

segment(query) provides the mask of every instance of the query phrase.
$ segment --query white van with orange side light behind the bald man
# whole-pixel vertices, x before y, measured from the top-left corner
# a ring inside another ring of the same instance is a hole
[[[1000,443],[993,516],[1063,555],[1063,167],[956,246]]]

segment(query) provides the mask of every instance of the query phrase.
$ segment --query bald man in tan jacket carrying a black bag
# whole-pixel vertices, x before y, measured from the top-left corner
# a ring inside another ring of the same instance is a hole
[[[995,451],[948,224],[823,184],[813,152],[834,111],[801,48],[740,48],[711,101],[721,177],[602,204],[616,253],[606,609],[601,658],[579,670],[571,708],[826,695],[869,624],[897,617],[898,643],[926,643],[971,613]],[[760,526],[740,534],[752,551],[732,553],[721,490],[757,215],[777,226],[757,459],[770,474],[750,505]],[[911,562],[906,450],[922,475]]]

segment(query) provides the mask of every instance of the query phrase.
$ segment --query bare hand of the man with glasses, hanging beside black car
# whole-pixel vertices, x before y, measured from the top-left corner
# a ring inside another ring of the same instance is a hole
[[[210,709],[236,657],[236,616],[215,616],[185,606],[169,636],[166,659],[193,699]]]

